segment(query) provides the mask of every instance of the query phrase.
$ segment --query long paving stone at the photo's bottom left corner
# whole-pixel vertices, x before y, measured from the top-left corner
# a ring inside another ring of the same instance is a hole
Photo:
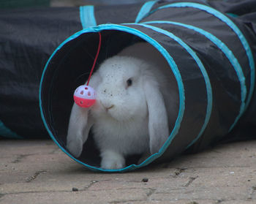
[[[37,204],[70,204],[70,203],[124,203],[147,199],[147,191],[143,189],[83,191],[83,192],[40,192],[5,194],[0,203],[37,203]]]

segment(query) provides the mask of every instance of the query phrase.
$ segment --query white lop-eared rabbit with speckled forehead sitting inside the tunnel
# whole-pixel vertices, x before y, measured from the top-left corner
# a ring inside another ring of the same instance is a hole
[[[67,149],[78,157],[92,128],[103,169],[125,167],[131,154],[154,154],[167,140],[178,113],[177,84],[163,56],[139,42],[106,59],[90,86],[97,101],[90,108],[74,103]]]

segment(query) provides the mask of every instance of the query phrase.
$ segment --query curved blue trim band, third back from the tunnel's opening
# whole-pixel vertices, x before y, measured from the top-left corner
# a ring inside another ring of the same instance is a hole
[[[176,26],[183,26],[187,29],[192,29],[193,31],[197,31],[200,34],[203,34],[205,37],[211,40],[211,42],[217,45],[217,47],[220,50],[222,50],[222,52],[225,54],[227,59],[230,61],[230,64],[232,64],[233,68],[235,69],[236,75],[238,76],[238,79],[240,81],[240,86],[241,86],[241,105],[240,105],[239,115],[236,117],[236,120],[232,124],[232,126],[234,126],[236,124],[236,121],[240,118],[240,115],[244,113],[245,99],[246,99],[246,84],[245,84],[243,69],[241,68],[241,65],[239,64],[236,56],[233,55],[233,52],[229,48],[227,48],[227,45],[225,45],[224,42],[222,42],[219,38],[215,37],[213,34],[209,33],[208,31],[205,31],[203,29],[197,28],[195,26],[187,25],[184,23],[178,23],[178,22],[166,21],[166,20],[148,21],[143,23],[169,23]],[[193,143],[195,143],[195,141],[193,141],[192,144]]]

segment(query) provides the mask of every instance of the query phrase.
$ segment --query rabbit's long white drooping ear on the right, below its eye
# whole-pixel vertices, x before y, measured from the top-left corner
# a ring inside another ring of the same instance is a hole
[[[143,89],[148,105],[148,132],[151,154],[157,153],[169,136],[167,110],[159,84],[153,76],[143,77]]]

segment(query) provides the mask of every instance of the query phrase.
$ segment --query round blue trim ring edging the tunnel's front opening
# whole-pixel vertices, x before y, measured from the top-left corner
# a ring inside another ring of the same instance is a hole
[[[50,131],[50,128],[45,120],[45,116],[44,116],[44,112],[43,112],[43,108],[42,108],[42,84],[44,82],[44,78],[45,78],[45,72],[48,69],[48,64],[50,63],[50,60],[53,58],[53,56],[56,54],[56,52],[61,49],[61,47],[63,47],[67,42],[71,41],[72,39],[75,39],[77,37],[79,37],[81,34],[85,34],[85,33],[89,33],[89,32],[99,32],[99,31],[103,31],[103,30],[116,30],[116,31],[125,31],[129,34],[134,34],[144,40],[146,40],[146,42],[150,43],[151,45],[153,45],[155,48],[157,48],[157,50],[159,50],[160,53],[162,53],[162,56],[165,57],[166,61],[168,62],[168,64],[170,64],[170,69],[172,69],[173,71],[173,75],[175,76],[177,83],[178,83],[178,92],[179,92],[179,110],[178,110],[178,117],[176,119],[176,124],[173,128],[173,131],[170,134],[170,137],[168,137],[167,141],[165,142],[164,146],[162,146],[162,148],[159,150],[158,153],[153,154],[151,156],[149,156],[143,163],[141,163],[140,165],[129,165],[128,167],[124,167],[123,169],[119,169],[119,170],[103,170],[102,168],[98,168],[98,167],[94,167],[91,165],[87,165],[81,161],[79,161],[78,159],[76,159],[75,157],[73,157],[71,154],[69,154],[60,144],[59,142],[56,140],[56,138],[53,136],[53,133]],[[67,154],[69,157],[71,157],[72,159],[74,159],[76,162],[88,167],[91,170],[96,170],[96,171],[103,171],[103,172],[124,172],[124,171],[128,171],[128,170],[135,170],[139,167],[143,167],[148,165],[149,163],[151,163],[152,161],[154,161],[154,159],[157,159],[159,156],[161,156],[164,151],[166,150],[166,148],[170,145],[171,141],[173,140],[173,138],[177,135],[178,130],[181,126],[181,121],[183,119],[184,116],[184,110],[185,110],[185,94],[184,94],[184,85],[182,82],[182,78],[181,78],[181,74],[178,71],[178,67],[175,63],[175,61],[173,61],[173,58],[170,56],[170,54],[167,52],[167,50],[165,50],[165,48],[162,47],[162,45],[159,44],[159,42],[157,42],[156,40],[152,39],[151,37],[148,37],[148,35],[144,34],[143,32],[137,30],[137,29],[132,29],[129,28],[127,26],[121,26],[121,25],[115,25],[115,24],[105,24],[105,25],[100,25],[94,28],[88,28],[82,31],[79,31],[76,34],[73,34],[71,37],[69,37],[68,39],[66,39],[64,42],[61,43],[61,45],[59,45],[58,48],[56,48],[56,50],[53,52],[53,54],[50,56],[50,58],[48,59],[47,64],[45,65],[45,69],[42,72],[42,78],[41,78],[41,82],[40,82],[40,87],[39,87],[39,107],[40,107],[40,112],[41,112],[41,116],[42,116],[42,121],[45,124],[46,129],[48,130],[48,133],[50,135],[50,137],[53,139],[53,141],[57,144],[57,146],[59,146],[59,148],[61,148],[62,151],[64,151],[65,154]]]

